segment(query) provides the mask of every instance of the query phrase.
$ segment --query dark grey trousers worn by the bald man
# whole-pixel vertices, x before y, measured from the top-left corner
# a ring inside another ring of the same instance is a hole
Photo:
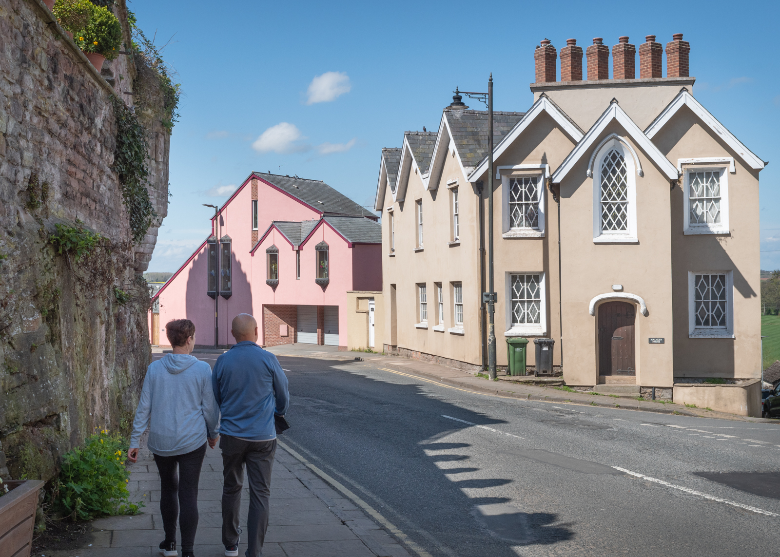
[[[236,545],[239,540],[239,509],[243,488],[243,466],[249,479],[249,515],[246,517],[246,557],[263,555],[263,541],[268,530],[268,499],[271,496],[271,469],[274,465],[276,439],[246,441],[222,435],[222,544]]]

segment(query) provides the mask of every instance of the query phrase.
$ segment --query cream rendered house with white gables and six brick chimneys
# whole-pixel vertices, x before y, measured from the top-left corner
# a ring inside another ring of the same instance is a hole
[[[758,173],[693,96],[690,46],[542,41],[527,112],[495,112],[495,323],[555,340],[568,385],[761,377]],[[437,133],[382,151],[385,349],[476,371],[487,364],[484,111],[445,108]],[[481,234],[480,234],[481,232]],[[529,364],[533,364],[533,343]],[[641,391],[640,391],[641,389]]]

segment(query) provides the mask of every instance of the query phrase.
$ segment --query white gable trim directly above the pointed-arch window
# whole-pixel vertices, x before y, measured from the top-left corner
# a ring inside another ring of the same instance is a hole
[[[639,145],[642,150],[647,153],[647,156],[651,161],[658,165],[658,168],[661,169],[661,172],[663,172],[669,180],[676,180],[679,177],[675,165],[672,165],[668,158],[666,158],[661,151],[658,151],[658,147],[642,133],[642,130],[629,118],[629,115],[620,108],[618,101],[612,101],[604,114],[602,114],[599,119],[596,120],[596,123],[588,129],[585,137],[583,137],[580,143],[574,147],[561,165],[558,166],[558,169],[552,175],[553,183],[560,183],[562,179],[566,178],[569,172],[574,168],[574,165],[576,165],[577,161],[579,161],[590,147],[593,146],[597,138],[612,120],[617,120],[619,124],[623,126],[623,129],[626,129],[626,132],[634,143]]]

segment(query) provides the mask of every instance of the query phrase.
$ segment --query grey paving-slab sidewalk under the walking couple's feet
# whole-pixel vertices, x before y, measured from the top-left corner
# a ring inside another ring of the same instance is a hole
[[[283,439],[283,438],[282,438]],[[142,445],[144,443],[142,442]],[[130,465],[128,488],[143,500],[143,513],[94,520],[92,539],[70,551],[43,552],[46,557],[155,557],[165,539],[160,515],[160,478],[148,449]],[[246,532],[249,489],[244,477],[240,527]],[[200,473],[195,537],[196,557],[224,555],[222,545],[222,456],[206,449]],[[181,537],[177,539],[180,544]],[[181,548],[177,547],[179,555]],[[246,543],[239,545],[244,555]],[[271,474],[271,516],[263,555],[267,557],[408,557],[401,545],[339,491],[326,484],[305,464],[278,447]]]

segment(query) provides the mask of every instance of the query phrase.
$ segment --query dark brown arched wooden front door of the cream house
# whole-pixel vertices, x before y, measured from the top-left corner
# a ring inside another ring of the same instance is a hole
[[[598,307],[598,367],[601,375],[636,375],[634,306],[605,302]]]

